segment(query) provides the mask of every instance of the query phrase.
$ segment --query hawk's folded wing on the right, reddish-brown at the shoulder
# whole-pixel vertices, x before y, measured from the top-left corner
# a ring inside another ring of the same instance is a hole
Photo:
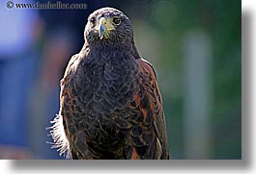
[[[130,107],[138,111],[133,120],[137,126],[132,131],[132,143],[136,151],[132,148],[131,157],[138,155],[140,159],[169,159],[165,117],[156,72],[150,62],[143,59],[138,62],[138,87],[130,103]]]

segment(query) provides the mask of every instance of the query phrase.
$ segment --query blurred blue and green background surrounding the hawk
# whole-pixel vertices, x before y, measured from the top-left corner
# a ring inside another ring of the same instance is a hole
[[[242,159],[241,1],[62,2],[87,9],[0,2],[0,159],[64,159],[46,143],[45,128],[59,110],[59,81],[83,45],[88,14],[105,6],[128,15],[140,55],[156,69],[172,159]]]

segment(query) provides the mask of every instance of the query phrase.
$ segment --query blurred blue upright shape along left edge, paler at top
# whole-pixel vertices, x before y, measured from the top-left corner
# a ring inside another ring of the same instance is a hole
[[[35,41],[33,29],[39,13],[8,11],[4,1],[1,1],[0,6],[0,155],[2,155],[1,152],[5,152],[2,146],[20,146],[22,149],[29,146],[27,104],[32,76],[37,66],[38,53],[32,47]],[[12,153],[12,150],[8,152]],[[23,156],[28,157],[28,154],[26,149],[24,153],[16,152],[14,157],[22,159]]]

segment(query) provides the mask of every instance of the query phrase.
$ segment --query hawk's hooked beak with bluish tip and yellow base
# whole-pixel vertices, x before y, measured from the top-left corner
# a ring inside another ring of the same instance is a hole
[[[110,31],[115,30],[115,27],[112,25],[110,18],[100,17],[97,30],[100,39],[102,39],[103,37],[108,38]]]

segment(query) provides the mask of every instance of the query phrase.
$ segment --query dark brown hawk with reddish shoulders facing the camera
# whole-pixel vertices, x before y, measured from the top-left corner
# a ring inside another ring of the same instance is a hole
[[[137,52],[128,16],[93,12],[84,39],[60,82],[52,148],[73,160],[169,159],[156,73]]]

